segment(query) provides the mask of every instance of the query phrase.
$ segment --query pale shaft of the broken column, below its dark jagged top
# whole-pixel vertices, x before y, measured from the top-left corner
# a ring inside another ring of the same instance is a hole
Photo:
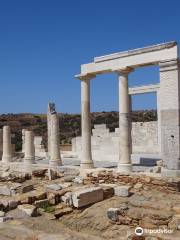
[[[60,166],[62,165],[60,155],[60,137],[59,137],[59,117],[58,114],[50,115],[50,159],[49,165]]]

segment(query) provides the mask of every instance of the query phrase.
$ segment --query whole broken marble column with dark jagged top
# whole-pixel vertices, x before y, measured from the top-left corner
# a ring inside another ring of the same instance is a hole
[[[48,116],[48,151],[51,166],[62,165],[60,155],[59,117],[55,111],[55,104],[49,104]]]

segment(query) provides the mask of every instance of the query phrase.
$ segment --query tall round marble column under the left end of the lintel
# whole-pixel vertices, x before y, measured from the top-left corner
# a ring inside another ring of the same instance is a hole
[[[91,117],[90,117],[90,79],[95,75],[79,77],[81,80],[81,168],[93,168],[91,152]]]

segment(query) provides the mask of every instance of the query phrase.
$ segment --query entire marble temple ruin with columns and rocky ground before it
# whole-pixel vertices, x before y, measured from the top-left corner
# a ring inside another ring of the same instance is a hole
[[[60,115],[47,110],[42,136],[22,129],[15,152],[10,126],[0,130],[0,240],[180,239],[180,65],[176,42],[96,57],[81,65],[81,136],[60,150]],[[128,87],[136,68],[158,65],[160,83]],[[119,128],[90,122],[90,82],[115,73]],[[157,93],[158,121],[130,119],[131,96]],[[145,162],[145,165],[142,163]],[[158,235],[152,230],[161,230]],[[147,230],[147,232],[145,231]],[[164,238],[164,234],[167,238]]]

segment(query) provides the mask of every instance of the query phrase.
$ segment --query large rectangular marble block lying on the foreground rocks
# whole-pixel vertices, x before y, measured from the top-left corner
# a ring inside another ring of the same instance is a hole
[[[72,193],[73,206],[84,207],[103,200],[103,190],[99,187],[90,187]]]

